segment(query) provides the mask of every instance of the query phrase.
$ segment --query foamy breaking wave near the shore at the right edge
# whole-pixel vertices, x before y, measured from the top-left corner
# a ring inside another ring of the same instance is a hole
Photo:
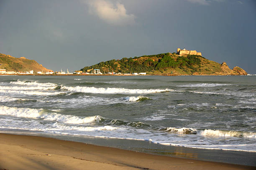
[[[222,137],[245,137],[245,138],[256,138],[256,133],[252,132],[239,132],[235,130],[211,130],[205,129],[200,131],[200,135],[209,136],[222,136]]]

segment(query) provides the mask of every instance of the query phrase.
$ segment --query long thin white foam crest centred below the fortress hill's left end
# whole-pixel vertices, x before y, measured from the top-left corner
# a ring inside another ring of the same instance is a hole
[[[171,91],[169,89],[125,89],[125,88],[96,88],[96,87],[67,87],[63,86],[61,89],[74,91],[74,92],[85,92],[85,93],[107,93],[107,94],[116,94],[116,93],[131,93],[131,94],[140,94],[140,93],[154,93],[154,92],[164,92]]]

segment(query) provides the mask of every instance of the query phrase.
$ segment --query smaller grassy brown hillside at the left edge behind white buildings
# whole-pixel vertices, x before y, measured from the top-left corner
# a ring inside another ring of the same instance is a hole
[[[6,71],[25,72],[29,70],[36,71],[50,71],[43,65],[38,64],[35,60],[29,60],[25,57],[15,58],[11,55],[0,53],[0,68]]]

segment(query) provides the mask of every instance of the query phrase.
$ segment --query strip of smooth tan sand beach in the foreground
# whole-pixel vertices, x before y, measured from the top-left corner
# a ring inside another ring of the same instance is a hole
[[[139,153],[39,136],[0,133],[0,169],[250,170],[253,166]]]

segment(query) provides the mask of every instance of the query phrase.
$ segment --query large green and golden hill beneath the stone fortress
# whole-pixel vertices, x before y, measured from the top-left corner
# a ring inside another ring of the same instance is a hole
[[[175,52],[109,60],[84,67],[81,71],[91,72],[93,69],[100,69],[102,73],[146,72],[150,75],[247,75],[237,66],[231,70],[226,62],[220,64],[201,55],[181,56]]]

